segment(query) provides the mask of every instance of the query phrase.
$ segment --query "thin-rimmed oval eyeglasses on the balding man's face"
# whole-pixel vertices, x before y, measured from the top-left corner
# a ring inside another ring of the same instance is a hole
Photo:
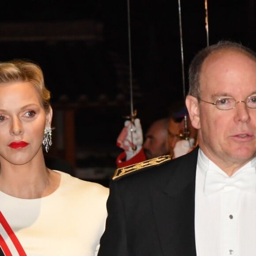
[[[216,102],[207,102],[200,99],[201,102],[206,102],[212,105],[215,105],[217,109],[220,110],[230,110],[234,109],[237,103],[244,102],[245,105],[250,109],[256,109],[256,95],[246,98],[244,101],[236,101],[233,98],[220,98]]]

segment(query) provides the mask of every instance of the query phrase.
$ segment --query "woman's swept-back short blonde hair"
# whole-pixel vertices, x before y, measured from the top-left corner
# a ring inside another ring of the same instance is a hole
[[[34,85],[45,112],[50,109],[50,91],[45,87],[44,76],[38,64],[30,60],[0,62],[0,83],[30,82]]]

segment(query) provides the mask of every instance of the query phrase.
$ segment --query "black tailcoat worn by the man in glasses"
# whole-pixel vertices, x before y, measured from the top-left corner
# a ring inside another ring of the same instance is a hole
[[[192,152],[111,181],[98,256],[196,256]]]

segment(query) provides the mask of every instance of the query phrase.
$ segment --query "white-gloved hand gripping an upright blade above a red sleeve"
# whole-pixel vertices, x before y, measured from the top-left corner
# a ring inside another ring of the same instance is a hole
[[[117,138],[117,146],[124,149],[126,160],[134,157],[142,148],[143,132],[139,118],[134,120],[134,124],[130,120],[124,122],[124,128]]]

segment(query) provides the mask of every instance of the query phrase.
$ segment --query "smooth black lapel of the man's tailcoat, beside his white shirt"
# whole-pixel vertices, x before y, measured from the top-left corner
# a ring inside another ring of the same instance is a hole
[[[176,162],[166,187],[152,188],[152,211],[164,256],[196,256],[195,180],[198,148]]]

